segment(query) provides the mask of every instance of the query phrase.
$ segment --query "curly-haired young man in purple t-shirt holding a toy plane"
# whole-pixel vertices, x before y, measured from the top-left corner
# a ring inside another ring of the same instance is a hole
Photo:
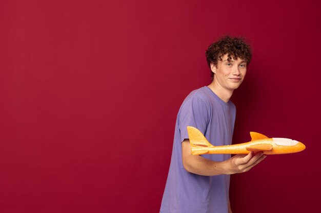
[[[235,121],[234,89],[243,82],[251,49],[226,36],[206,51],[212,83],[192,91],[180,107],[161,213],[227,213],[230,174],[249,171],[266,156],[192,155],[187,126],[199,129],[214,146],[230,145]]]

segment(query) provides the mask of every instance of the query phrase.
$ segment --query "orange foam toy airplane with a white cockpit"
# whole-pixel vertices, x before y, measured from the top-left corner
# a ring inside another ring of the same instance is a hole
[[[306,146],[299,141],[288,138],[268,138],[267,136],[250,132],[252,140],[248,143],[213,146],[195,127],[187,127],[193,155],[203,154],[248,154],[251,151],[262,151],[266,155],[288,154],[305,150]]]

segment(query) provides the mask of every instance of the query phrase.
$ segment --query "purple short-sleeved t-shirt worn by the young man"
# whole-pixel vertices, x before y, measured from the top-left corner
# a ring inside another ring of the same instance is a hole
[[[207,86],[192,91],[177,114],[171,164],[161,213],[228,212],[229,175],[202,176],[187,172],[182,162],[182,142],[189,138],[187,126],[199,129],[214,146],[231,145],[235,105],[225,103]],[[227,154],[203,157],[224,161]]]

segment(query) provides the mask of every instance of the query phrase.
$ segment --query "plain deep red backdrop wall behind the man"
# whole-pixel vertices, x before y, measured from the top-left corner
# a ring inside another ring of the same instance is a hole
[[[231,178],[234,212],[309,212],[321,190],[319,1],[1,1],[0,211],[158,212],[178,108],[205,50],[243,35],[232,100],[249,131],[304,152]]]

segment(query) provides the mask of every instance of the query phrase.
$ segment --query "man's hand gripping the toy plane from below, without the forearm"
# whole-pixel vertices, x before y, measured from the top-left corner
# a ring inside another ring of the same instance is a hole
[[[234,155],[227,160],[230,174],[247,172],[266,158],[263,152],[250,152],[248,155]]]

